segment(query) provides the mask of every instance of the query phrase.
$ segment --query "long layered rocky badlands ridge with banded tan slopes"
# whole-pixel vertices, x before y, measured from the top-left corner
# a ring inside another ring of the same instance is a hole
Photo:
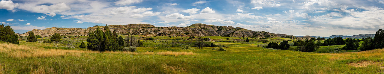
[[[93,26],[89,28],[46,28],[44,30],[32,30],[35,35],[43,37],[52,36],[55,33],[68,36],[87,36],[96,28],[103,29],[104,26]],[[232,26],[214,26],[196,23],[187,27],[155,27],[149,24],[109,25],[109,29],[116,31],[118,35],[143,35],[143,36],[235,36],[235,37],[258,37],[258,38],[296,38],[292,35],[274,34],[265,31],[252,31],[244,28],[233,28]],[[29,31],[28,31],[29,32]],[[28,36],[23,33],[20,36]]]

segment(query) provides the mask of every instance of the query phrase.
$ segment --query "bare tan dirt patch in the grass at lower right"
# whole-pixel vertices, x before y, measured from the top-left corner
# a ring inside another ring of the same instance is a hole
[[[354,67],[366,67],[369,65],[379,66],[381,69],[384,69],[384,66],[380,62],[372,62],[372,61],[360,61],[360,62],[351,62],[348,63],[349,66]]]

